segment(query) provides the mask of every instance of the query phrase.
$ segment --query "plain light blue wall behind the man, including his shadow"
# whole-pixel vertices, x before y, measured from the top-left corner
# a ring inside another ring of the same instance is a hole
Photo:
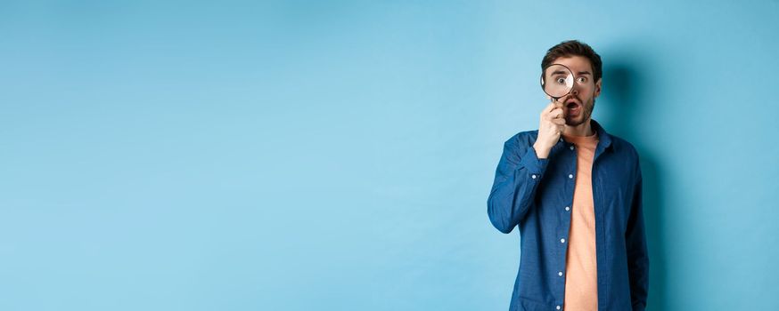
[[[0,309],[504,310],[545,50],[642,156],[650,310],[779,309],[779,3],[0,2]]]

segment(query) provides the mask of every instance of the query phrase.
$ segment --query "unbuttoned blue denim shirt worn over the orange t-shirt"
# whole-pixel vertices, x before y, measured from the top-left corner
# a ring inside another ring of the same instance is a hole
[[[649,254],[638,154],[594,120],[590,124],[599,139],[592,168],[598,310],[644,310]],[[487,203],[489,220],[498,230],[508,234],[520,227],[512,311],[564,309],[568,244],[560,239],[569,239],[566,207],[573,203],[577,152],[561,139],[546,159],[539,159],[533,148],[537,135],[520,132],[505,142]]]

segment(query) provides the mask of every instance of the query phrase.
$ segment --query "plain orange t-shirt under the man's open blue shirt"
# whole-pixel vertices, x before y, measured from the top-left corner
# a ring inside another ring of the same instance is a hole
[[[592,169],[597,133],[563,138],[576,145],[576,187],[570,210],[570,235],[565,259],[565,310],[598,309],[598,262],[595,255],[595,213]]]

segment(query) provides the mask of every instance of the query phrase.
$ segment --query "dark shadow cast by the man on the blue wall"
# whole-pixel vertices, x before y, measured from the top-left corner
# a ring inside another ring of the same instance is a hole
[[[652,140],[651,133],[638,132],[637,126],[652,121],[644,119],[640,114],[640,111],[648,111],[653,107],[652,90],[648,89],[652,83],[647,80],[647,76],[652,76],[649,75],[652,66],[637,61],[636,56],[636,53],[620,53],[604,59],[603,95],[608,100],[603,101],[606,107],[601,109],[608,111],[607,116],[611,116],[603,122],[609,124],[607,131],[631,142],[638,150],[644,177],[644,221],[650,253],[647,310],[668,310],[667,252],[662,231],[666,211],[661,187],[663,174],[660,164],[652,154],[653,150],[644,147],[644,141]]]

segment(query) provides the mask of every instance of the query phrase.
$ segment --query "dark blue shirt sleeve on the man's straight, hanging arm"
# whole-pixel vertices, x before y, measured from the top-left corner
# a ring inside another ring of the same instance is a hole
[[[634,311],[644,311],[649,291],[649,252],[646,249],[646,235],[644,233],[641,166],[638,164],[636,166],[638,177],[633,191],[630,215],[627,219],[625,241],[627,269],[630,277],[630,299]]]

